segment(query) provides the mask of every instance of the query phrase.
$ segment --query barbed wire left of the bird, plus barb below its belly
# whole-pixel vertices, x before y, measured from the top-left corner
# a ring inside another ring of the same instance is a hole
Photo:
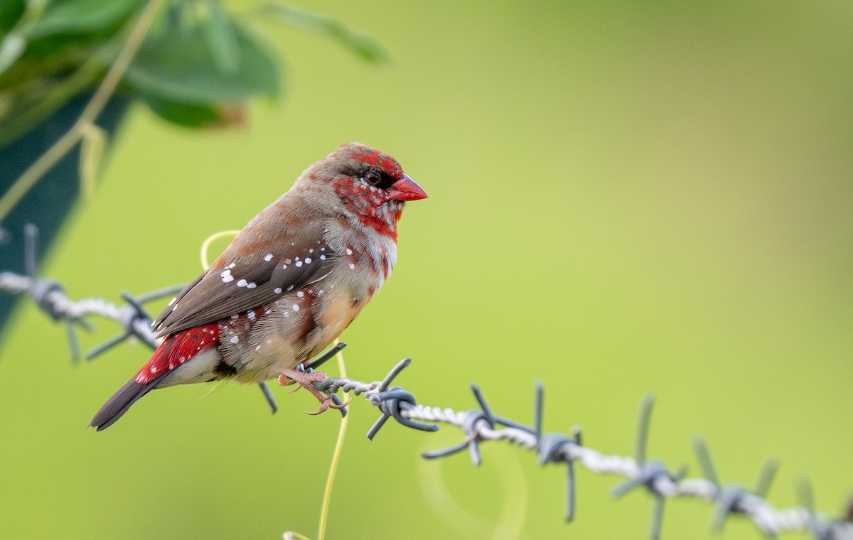
[[[105,299],[82,299],[74,301],[67,296],[65,289],[59,282],[36,276],[36,269],[38,268],[38,228],[33,224],[26,224],[24,235],[24,268],[26,269],[26,275],[21,276],[10,271],[0,272],[0,293],[26,294],[38,305],[39,309],[47,313],[54,321],[64,322],[67,328],[68,345],[71,348],[71,358],[74,363],[78,363],[80,358],[77,327],[89,332],[95,329],[86,320],[85,317],[87,316],[100,316],[118,322],[122,328],[120,334],[113,336],[100,345],[96,345],[88,351],[86,353],[87,360],[91,360],[131,338],[142,341],[142,343],[148,345],[151,349],[157,348],[159,341],[151,329],[152,318],[143,305],[152,300],[178,293],[183,289],[183,285],[161,288],[138,297],[130,293],[121,293],[122,299],[125,300],[125,305],[115,305]],[[275,414],[278,410],[278,405],[276,404],[276,398],[270,392],[270,388],[263,381],[258,383],[258,386],[264,392],[264,398],[266,398],[267,403],[270,404],[270,409]]]

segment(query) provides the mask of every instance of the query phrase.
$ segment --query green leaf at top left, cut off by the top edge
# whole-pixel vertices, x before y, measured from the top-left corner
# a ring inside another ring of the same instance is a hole
[[[3,0],[5,1],[5,0]],[[56,0],[26,32],[30,39],[58,33],[91,32],[114,26],[143,0]]]

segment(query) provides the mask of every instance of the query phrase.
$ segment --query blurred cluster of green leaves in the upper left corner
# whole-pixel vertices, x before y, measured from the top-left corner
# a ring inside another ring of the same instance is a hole
[[[0,6],[0,148],[74,96],[94,87],[144,0],[8,0]],[[373,39],[338,20],[278,3],[258,9],[327,34],[365,61],[381,61]],[[121,90],[174,124],[240,123],[243,103],[280,94],[281,62],[247,15],[218,0],[167,3]]]

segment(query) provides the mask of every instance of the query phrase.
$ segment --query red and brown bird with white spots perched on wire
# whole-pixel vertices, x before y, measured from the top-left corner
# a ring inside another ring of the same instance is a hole
[[[397,220],[427,193],[392,156],[345,144],[235,236],[154,319],[162,342],[107,400],[89,427],[102,431],[155,388],[235,380],[311,382],[294,369],[337,339],[397,262]],[[334,405],[333,405],[334,406]]]

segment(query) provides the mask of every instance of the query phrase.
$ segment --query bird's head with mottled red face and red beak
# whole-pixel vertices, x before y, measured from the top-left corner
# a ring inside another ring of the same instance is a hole
[[[427,198],[397,160],[360,142],[328,154],[306,170],[299,183],[305,183],[333,213],[395,236],[405,202]]]

